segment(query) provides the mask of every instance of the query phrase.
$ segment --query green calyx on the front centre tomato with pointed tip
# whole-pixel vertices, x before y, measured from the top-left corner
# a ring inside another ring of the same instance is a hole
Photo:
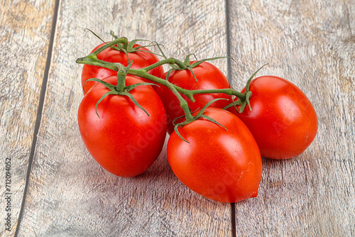
[[[174,131],[176,134],[178,134],[178,136],[184,140],[185,142],[187,143],[190,143],[189,141],[187,141],[185,138],[183,138],[179,132],[179,127],[182,127],[182,126],[185,126],[187,125],[188,123],[192,123],[193,121],[196,121],[197,119],[200,119],[200,118],[204,118],[208,121],[211,121],[212,123],[216,123],[217,125],[219,126],[222,126],[222,128],[224,128],[225,130],[228,130],[225,126],[223,126],[221,123],[219,123],[218,121],[214,120],[213,118],[207,116],[204,114],[204,111],[207,109],[208,106],[210,106],[211,104],[213,104],[215,101],[218,101],[220,99],[224,99],[224,98],[217,98],[217,99],[212,99],[212,101],[209,101],[206,105],[204,105],[202,107],[202,109],[200,109],[200,111],[195,115],[195,116],[192,116],[190,118],[187,118],[187,116],[180,116],[178,118],[175,118],[173,120],[173,125],[174,125]],[[224,99],[224,100],[227,100],[227,99]],[[196,111],[193,111],[193,112],[190,112],[191,114],[194,114],[195,112],[197,112],[199,109],[197,109]],[[186,118],[185,121],[181,122],[181,123],[175,123],[176,121],[178,121],[179,119],[182,119],[182,118]]]

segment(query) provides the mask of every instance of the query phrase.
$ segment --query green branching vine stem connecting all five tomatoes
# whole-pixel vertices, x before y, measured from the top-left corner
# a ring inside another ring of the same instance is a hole
[[[116,86],[116,92],[114,92],[114,90],[111,89],[111,92],[108,92],[107,94],[117,94],[117,93],[122,93],[123,89],[124,89],[124,76],[126,74],[130,74],[130,75],[135,75],[138,77],[142,77],[145,79],[150,80],[151,82],[155,82],[157,84],[163,85],[165,87],[168,87],[168,89],[170,89],[175,96],[179,99],[180,101],[180,106],[183,109],[184,113],[185,113],[185,121],[183,123],[177,123],[175,124],[175,132],[178,133],[178,135],[180,136],[180,133],[178,132],[178,127],[179,126],[184,126],[187,123],[190,123],[192,121],[195,121],[196,119],[200,118],[202,116],[202,113],[199,113],[198,116],[192,116],[192,112],[190,111],[190,108],[187,104],[187,101],[185,101],[185,99],[181,96],[181,94],[184,94],[188,99],[190,99],[192,102],[195,101],[194,99],[194,95],[196,94],[213,94],[213,93],[223,93],[223,94],[227,94],[227,95],[232,95],[235,97],[238,97],[239,99],[237,101],[232,102],[231,104],[229,104],[228,106],[225,107],[225,109],[231,107],[231,106],[236,106],[236,105],[241,105],[241,109],[239,110],[239,112],[242,112],[243,109],[245,108],[246,104],[249,104],[249,99],[251,97],[251,92],[249,91],[249,89],[246,90],[245,93],[241,93],[236,91],[235,89],[232,88],[226,88],[226,89],[195,89],[195,90],[189,90],[189,89],[183,89],[182,87],[178,87],[177,85],[170,83],[168,81],[168,79],[162,79],[159,77],[155,77],[153,75],[148,74],[147,72],[149,70],[154,69],[155,67],[160,67],[162,65],[170,65],[172,68],[171,70],[169,70],[167,77],[169,76],[170,72],[172,70],[190,70],[190,72],[192,72],[192,68],[196,67],[197,65],[200,65],[202,62],[208,61],[208,60],[216,60],[216,59],[220,59],[220,58],[224,58],[224,57],[212,57],[212,58],[208,58],[208,59],[204,59],[204,60],[200,60],[197,61],[193,64],[190,65],[190,55],[187,55],[187,57],[185,57],[185,61],[182,62],[174,57],[169,57],[167,58],[165,56],[165,54],[163,53],[163,51],[161,50],[161,48],[159,47],[158,43],[158,47],[163,55],[163,57],[165,57],[164,60],[160,60],[158,62],[155,62],[153,65],[149,65],[147,67],[143,67],[140,69],[133,69],[130,68],[130,66],[124,67],[123,65],[121,65],[121,63],[119,62],[106,62],[104,60],[99,60],[97,58],[97,55],[99,55],[99,53],[102,53],[102,51],[106,50],[107,48],[114,48],[116,50],[123,50],[124,52],[126,52],[126,50],[128,50],[132,45],[132,42],[136,42],[137,40],[133,40],[131,41],[131,43],[129,43],[128,39],[125,37],[121,37],[118,38],[116,37],[116,35],[114,35],[111,32],[111,35],[114,36],[114,40],[112,40],[109,43],[105,43],[102,47],[98,48],[97,50],[94,50],[94,52],[90,53],[89,55],[85,56],[85,57],[79,57],[76,62],[79,64],[87,64],[87,65],[94,65],[94,66],[98,66],[98,67],[104,67],[107,68],[109,70],[114,70],[116,72],[121,72],[121,74],[119,73],[118,76],[118,83]],[[124,45],[122,47],[117,47],[116,45]],[[262,67],[261,67],[262,68]],[[256,75],[256,73],[261,70],[258,69],[256,72],[253,73],[253,75],[249,78],[248,84],[247,84],[247,88],[249,83],[251,82],[251,79],[253,79],[253,77]],[[125,72],[125,74],[123,75],[122,72]],[[193,72],[192,72],[193,74]],[[195,75],[194,75],[195,77]],[[195,77],[196,79],[196,77]],[[197,79],[196,79],[197,80]],[[95,81],[95,82],[100,82],[102,83],[101,79],[89,79],[88,81]],[[120,87],[120,88],[119,88]],[[104,97],[107,96],[107,94],[105,94],[102,99],[104,99]],[[125,93],[127,94],[127,93]],[[131,97],[130,97],[131,98]],[[102,100],[100,99],[100,101]],[[98,104],[99,102],[98,101]],[[214,100],[215,101],[215,100]],[[212,104],[214,101],[210,101],[207,106],[209,106],[210,104]],[[138,107],[140,107],[141,109],[143,109],[141,106],[139,106],[136,101],[133,101]],[[204,111],[204,109],[207,108],[204,107],[202,108],[202,112]],[[250,104],[249,104],[250,107]],[[144,110],[144,109],[143,109]],[[210,121],[217,123],[217,121],[212,120],[212,118],[207,118]],[[217,123],[219,124],[219,123]],[[180,136],[180,138],[182,138]],[[184,138],[182,138],[183,140],[185,140]]]

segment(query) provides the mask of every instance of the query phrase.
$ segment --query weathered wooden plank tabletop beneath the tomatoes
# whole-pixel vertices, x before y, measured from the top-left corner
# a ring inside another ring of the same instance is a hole
[[[355,236],[354,0],[5,0],[0,10],[1,236]],[[214,65],[236,89],[268,63],[258,75],[285,77],[312,101],[317,137],[297,158],[263,158],[258,197],[236,204],[187,189],[165,149],[143,175],[110,175],[77,127],[75,60],[100,43],[84,28],[157,40],[181,60],[230,55]]]

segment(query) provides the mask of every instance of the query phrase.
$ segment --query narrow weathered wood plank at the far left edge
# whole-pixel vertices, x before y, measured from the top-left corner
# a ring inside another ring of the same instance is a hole
[[[13,236],[21,209],[53,8],[53,1],[0,4],[0,236]]]

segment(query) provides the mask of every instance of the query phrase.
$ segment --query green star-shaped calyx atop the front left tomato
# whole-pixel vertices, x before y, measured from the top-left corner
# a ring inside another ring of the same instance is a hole
[[[105,99],[107,96],[109,96],[110,94],[113,95],[119,95],[119,96],[126,96],[129,97],[129,99],[131,99],[131,101],[138,106],[139,109],[142,109],[148,116],[151,116],[150,114],[148,114],[148,112],[146,111],[146,109],[144,109],[141,104],[138,103],[138,101],[133,97],[133,95],[131,93],[129,93],[132,89],[139,87],[139,86],[143,86],[143,85],[150,85],[153,86],[156,84],[153,83],[148,83],[148,82],[140,82],[137,84],[131,84],[129,86],[125,86],[126,84],[126,75],[127,72],[129,71],[129,68],[131,67],[131,65],[133,64],[133,61],[129,62],[129,65],[125,68],[123,65],[119,64],[119,70],[117,71],[117,85],[114,86],[113,84],[109,84],[107,82],[104,82],[104,80],[102,79],[98,79],[98,78],[91,78],[91,79],[87,79],[87,82],[99,82],[101,84],[103,84],[105,87],[107,87],[107,89],[109,89],[109,92],[106,92],[98,101],[97,104],[95,105],[95,112],[97,114],[97,116],[100,118],[99,114],[97,113],[97,106],[100,104],[100,102]]]

